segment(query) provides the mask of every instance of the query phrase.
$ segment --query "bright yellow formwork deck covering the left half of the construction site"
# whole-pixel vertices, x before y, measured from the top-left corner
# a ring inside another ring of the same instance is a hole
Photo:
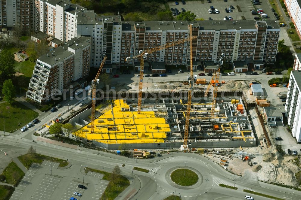
[[[96,140],[107,144],[116,143],[163,143],[166,133],[170,132],[165,118],[155,117],[154,111],[141,114],[129,111],[129,105],[123,100],[111,104],[102,103],[96,109],[104,113],[95,119],[94,133],[91,124],[82,127],[82,138]]]

